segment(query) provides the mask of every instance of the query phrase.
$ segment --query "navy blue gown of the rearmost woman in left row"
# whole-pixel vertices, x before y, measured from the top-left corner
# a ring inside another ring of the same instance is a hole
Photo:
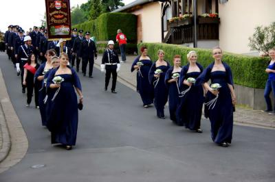
[[[45,112],[45,104],[43,100],[45,99],[46,96],[46,89],[45,89],[45,84],[43,84],[43,81],[39,81],[37,77],[43,76],[43,71],[45,68],[46,63],[41,64],[38,70],[36,70],[36,73],[34,75],[34,81],[35,83],[39,86],[39,110],[41,114],[41,121],[42,125],[46,126],[46,112]]]

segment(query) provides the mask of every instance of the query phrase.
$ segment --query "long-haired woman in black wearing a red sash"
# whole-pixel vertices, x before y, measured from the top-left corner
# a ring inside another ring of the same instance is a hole
[[[36,56],[34,53],[31,53],[28,57],[28,62],[23,66],[24,75],[23,75],[23,85],[27,87],[27,105],[26,107],[30,107],[30,103],[32,102],[32,94],[34,92],[34,101],[36,109],[39,109],[39,86],[34,85],[34,74],[36,70],[39,68],[39,64],[37,63]]]

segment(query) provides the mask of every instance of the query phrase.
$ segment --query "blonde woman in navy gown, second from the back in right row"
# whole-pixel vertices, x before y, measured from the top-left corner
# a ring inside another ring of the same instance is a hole
[[[149,70],[149,81],[154,87],[154,105],[157,109],[157,117],[165,119],[164,105],[168,100],[168,90],[164,83],[164,77],[170,64],[164,60],[164,51],[157,51],[157,55],[159,59],[153,63]]]

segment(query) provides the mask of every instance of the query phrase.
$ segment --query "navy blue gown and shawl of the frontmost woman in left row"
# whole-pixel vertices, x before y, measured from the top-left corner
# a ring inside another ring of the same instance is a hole
[[[78,101],[75,88],[81,90],[81,84],[76,71],[69,66],[68,68],[72,70],[72,75],[55,75],[58,69],[55,68],[47,78],[47,89],[51,92],[49,95],[50,101],[52,101],[52,95],[58,89],[50,88],[50,84],[54,83],[52,79],[55,76],[61,76],[64,79],[60,91],[49,108],[50,116],[47,120],[47,127],[52,133],[52,144],[60,143],[73,146],[76,144],[78,129]]]

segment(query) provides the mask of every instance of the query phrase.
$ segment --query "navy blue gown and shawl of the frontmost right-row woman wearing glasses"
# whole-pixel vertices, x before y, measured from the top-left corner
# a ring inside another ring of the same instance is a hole
[[[212,140],[217,144],[223,142],[231,143],[233,131],[233,105],[228,83],[232,86],[234,86],[234,84],[230,67],[228,64],[225,64],[225,62],[222,63],[225,71],[218,70],[211,72],[214,66],[213,62],[203,70],[203,73],[201,73],[196,83],[206,83],[211,79],[211,83],[219,83],[221,85],[221,88],[219,88],[219,97],[214,108],[212,109],[212,107],[205,105],[204,110],[206,118],[208,117],[211,122]],[[205,102],[207,103],[215,97],[214,94],[208,91]]]

